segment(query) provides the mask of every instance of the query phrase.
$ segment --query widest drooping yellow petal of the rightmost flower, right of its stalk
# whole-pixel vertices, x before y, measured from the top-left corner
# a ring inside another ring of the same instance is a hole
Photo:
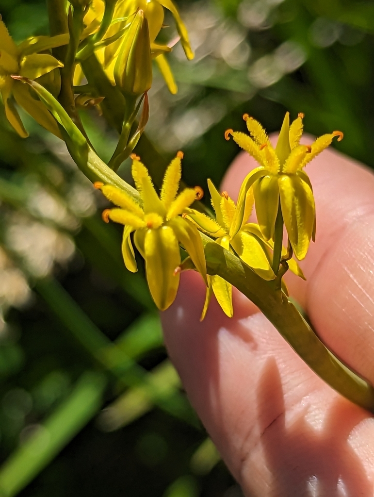
[[[299,176],[283,175],[278,180],[286,230],[297,259],[305,257],[314,226],[314,198]]]

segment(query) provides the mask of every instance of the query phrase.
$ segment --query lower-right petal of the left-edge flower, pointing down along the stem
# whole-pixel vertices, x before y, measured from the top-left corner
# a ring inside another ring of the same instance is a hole
[[[58,138],[62,139],[56,119],[40,100],[35,100],[35,98],[31,96],[30,86],[18,81],[14,82],[13,95],[18,105],[23,107],[36,122]]]

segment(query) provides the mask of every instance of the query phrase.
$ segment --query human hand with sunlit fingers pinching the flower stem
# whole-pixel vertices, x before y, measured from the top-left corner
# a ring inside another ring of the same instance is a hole
[[[256,166],[240,154],[223,190],[236,199]],[[374,384],[374,175],[325,151],[306,167],[316,243],[287,274],[320,338]],[[235,289],[234,289],[235,290]],[[192,405],[246,496],[373,496],[374,418],[320,380],[256,307],[233,291],[234,317],[182,274],[162,314],[165,341]]]

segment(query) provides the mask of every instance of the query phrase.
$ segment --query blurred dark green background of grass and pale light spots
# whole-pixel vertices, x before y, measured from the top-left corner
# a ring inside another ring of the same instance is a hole
[[[196,58],[157,75],[150,140],[184,179],[217,184],[237,153],[224,130],[247,112],[279,129],[305,113],[316,135],[374,166],[374,4],[353,0],[180,1]],[[48,34],[43,0],[0,0],[16,41]],[[167,19],[162,36],[174,36]],[[162,343],[142,271],[65,145],[27,115],[18,138],[0,112],[0,496],[240,497],[190,407]],[[116,145],[82,114],[101,157]],[[129,177],[129,164],[120,173]]]

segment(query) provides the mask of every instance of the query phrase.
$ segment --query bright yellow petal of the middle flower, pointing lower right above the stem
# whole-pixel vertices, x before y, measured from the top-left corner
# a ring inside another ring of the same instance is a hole
[[[231,240],[231,247],[241,260],[262,278],[266,280],[275,278],[267,253],[257,237],[241,230]]]

